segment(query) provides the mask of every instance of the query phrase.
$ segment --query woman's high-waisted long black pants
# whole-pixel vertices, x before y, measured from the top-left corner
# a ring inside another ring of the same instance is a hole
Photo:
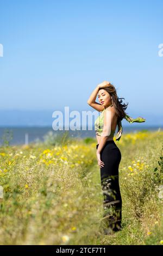
[[[96,145],[96,149],[98,145]],[[103,221],[106,227],[116,231],[122,227],[122,198],[118,175],[121,151],[114,141],[106,141],[101,151],[101,161],[104,162],[104,167],[100,168],[104,196]]]

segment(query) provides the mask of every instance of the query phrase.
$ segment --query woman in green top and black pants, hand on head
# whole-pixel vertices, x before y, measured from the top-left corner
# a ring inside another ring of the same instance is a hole
[[[97,103],[96,97],[98,95]],[[122,198],[119,186],[118,167],[121,161],[121,151],[114,142],[116,126],[118,132],[116,140],[122,135],[121,120],[125,118],[129,123],[141,123],[145,119],[138,117],[133,119],[126,114],[127,105],[119,101],[115,87],[108,81],[98,84],[93,90],[87,103],[101,112],[95,121],[97,138],[97,161],[101,170],[101,185],[103,190],[103,220],[106,224],[104,234],[122,229]]]

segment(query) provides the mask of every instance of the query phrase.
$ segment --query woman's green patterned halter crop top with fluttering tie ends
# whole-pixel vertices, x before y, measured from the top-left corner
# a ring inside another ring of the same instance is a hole
[[[112,106],[112,105],[110,105]],[[98,116],[98,118],[95,121],[95,130],[96,130],[96,135],[101,136],[101,133],[103,132],[103,123],[104,123],[104,111],[101,111],[101,114]],[[137,117],[137,118],[132,118],[128,114],[125,114],[124,117],[130,124],[136,122],[136,123],[142,123],[145,122],[146,119],[143,117]],[[122,118],[123,119],[123,118]],[[122,119],[118,118],[117,120],[117,126],[118,126],[118,131],[117,131],[117,136],[116,136],[116,141],[120,141],[120,138],[122,136]],[[108,136],[109,138],[114,137],[115,131],[111,131],[110,135]]]

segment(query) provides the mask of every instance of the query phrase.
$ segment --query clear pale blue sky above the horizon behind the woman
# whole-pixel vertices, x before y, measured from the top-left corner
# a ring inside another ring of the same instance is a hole
[[[162,1],[0,3],[1,110],[93,111],[107,80],[128,113],[162,114]]]

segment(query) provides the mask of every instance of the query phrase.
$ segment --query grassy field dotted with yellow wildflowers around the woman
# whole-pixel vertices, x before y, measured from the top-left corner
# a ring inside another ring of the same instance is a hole
[[[101,233],[96,140],[0,148],[1,245],[162,245],[162,131],[122,135],[122,231]],[[163,186],[162,186],[163,187]]]

